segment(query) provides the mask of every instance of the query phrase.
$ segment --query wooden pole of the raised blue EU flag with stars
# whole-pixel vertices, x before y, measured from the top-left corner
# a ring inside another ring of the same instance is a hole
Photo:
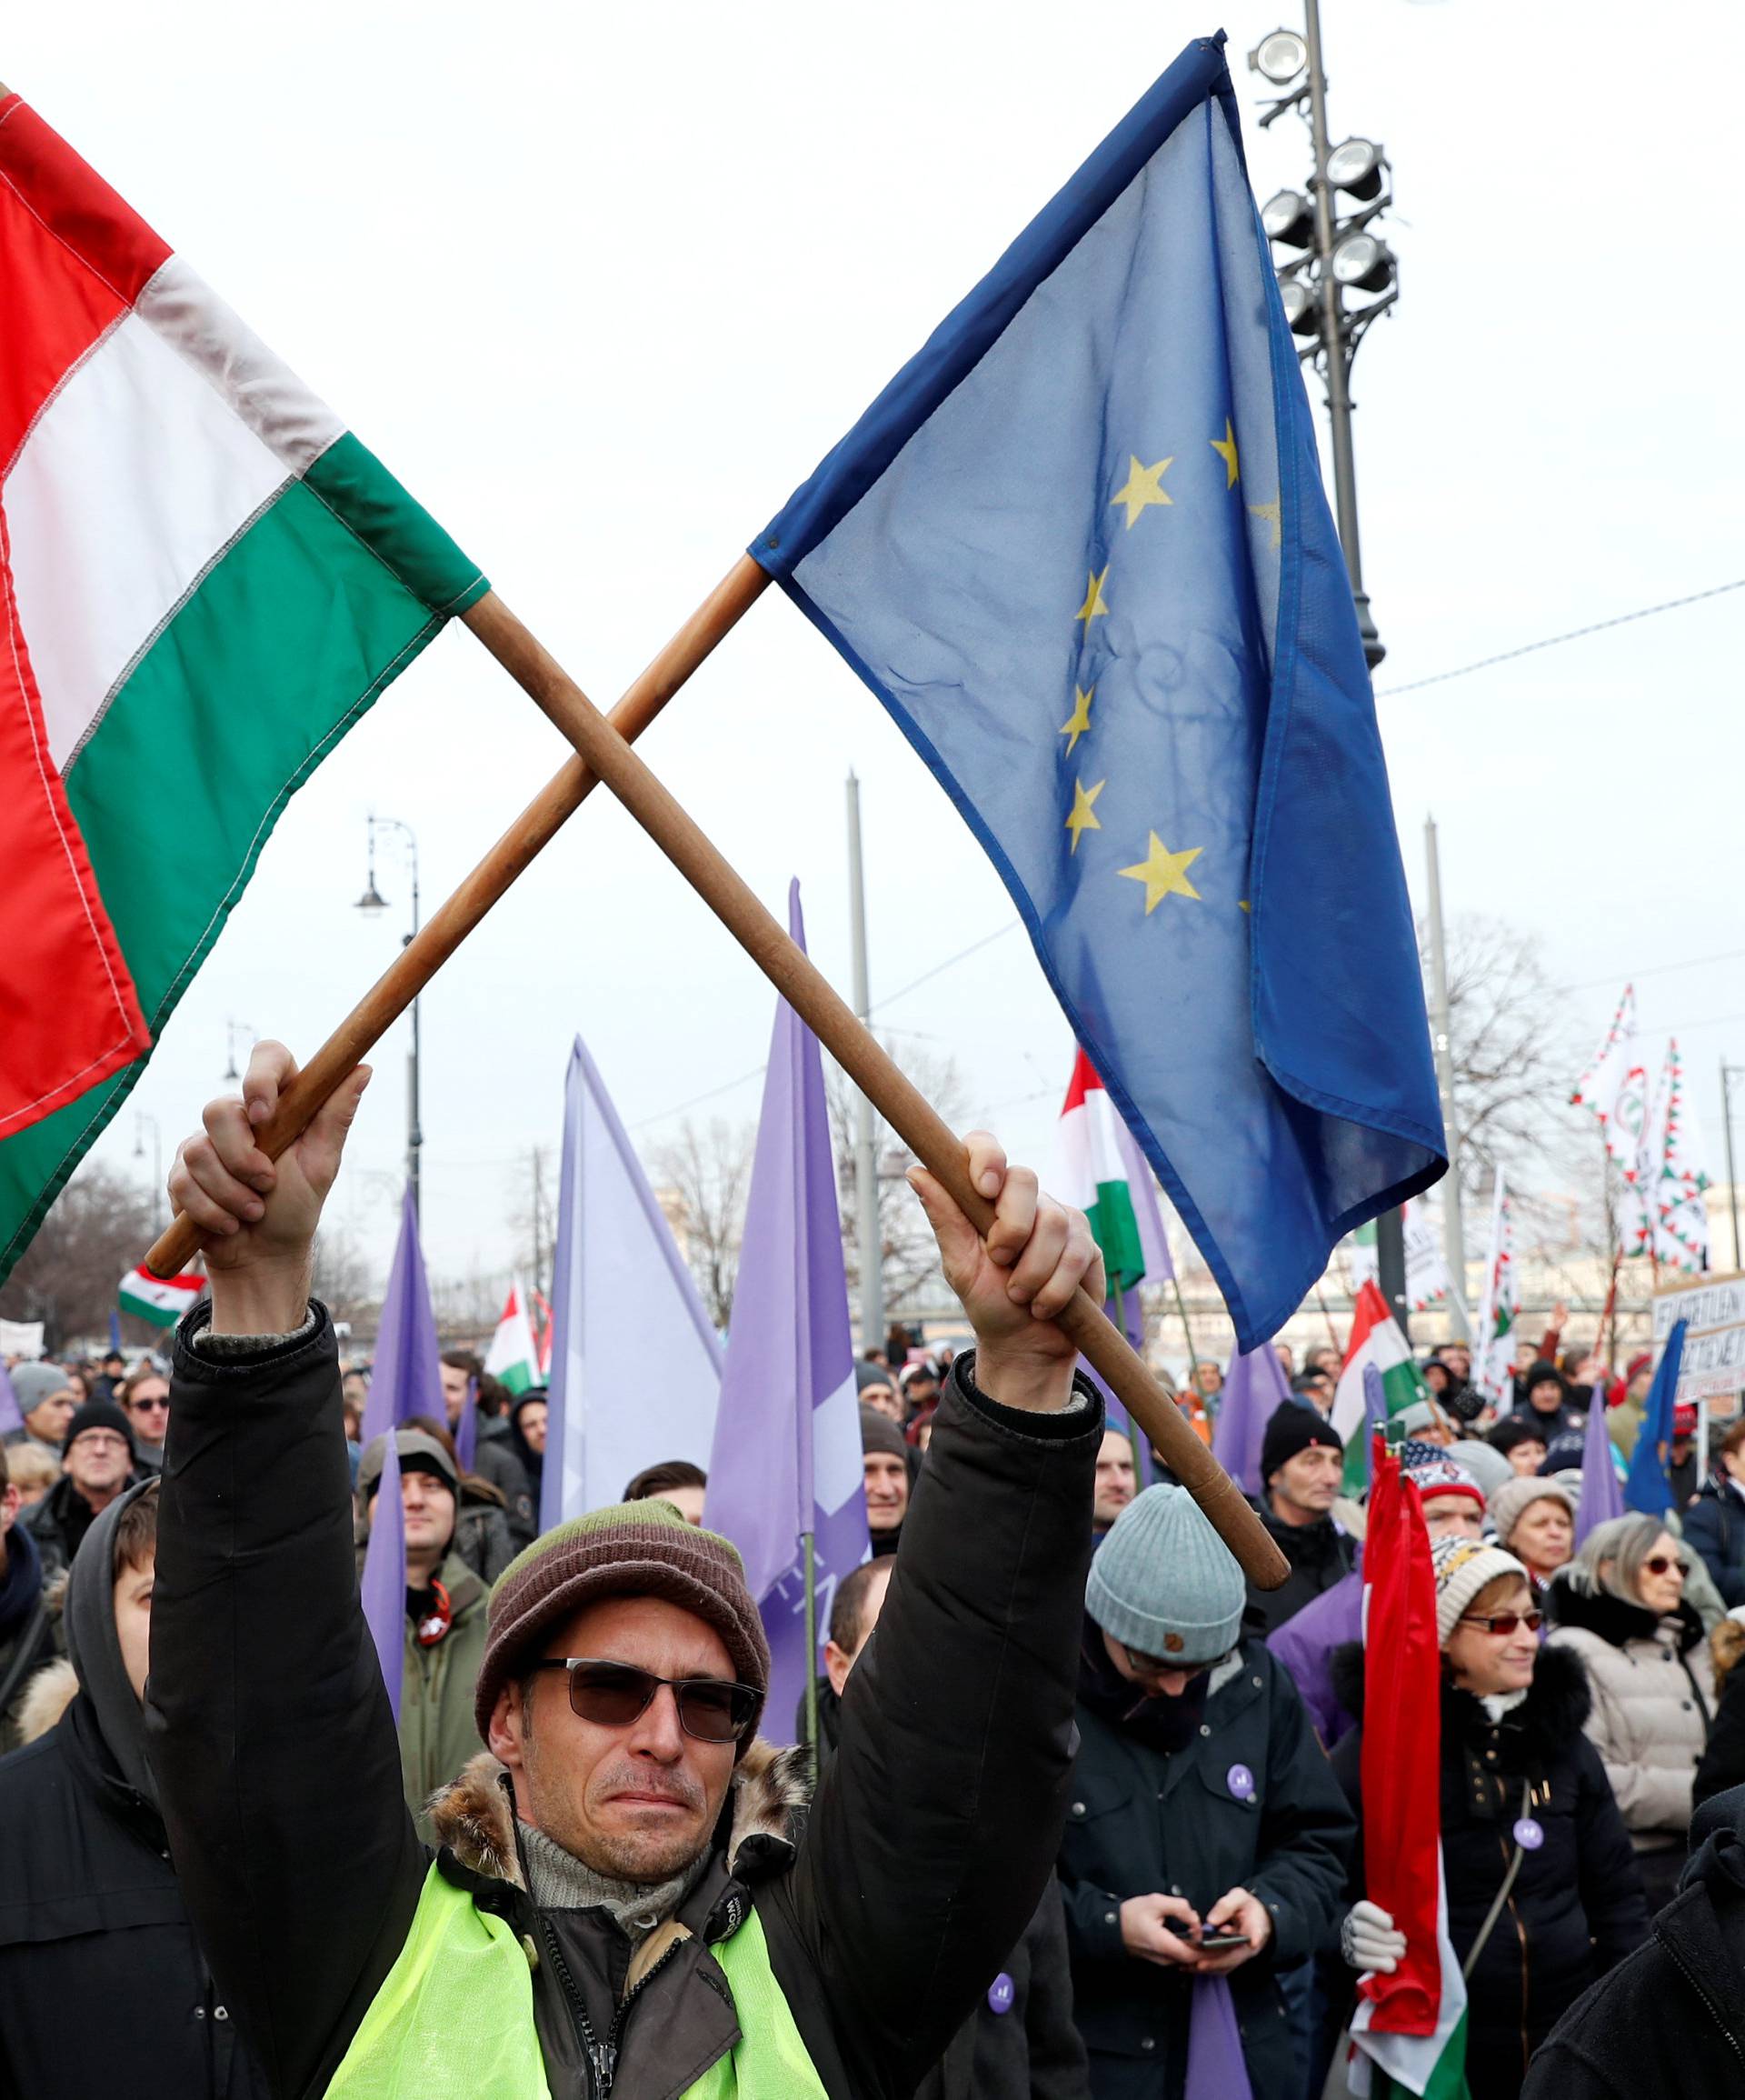
[[[613,708],[613,729],[626,741],[638,737],[653,722],[714,645],[758,601],[766,584],[769,578],[764,571],[750,554],[741,554],[716,590],[697,607]],[[491,603],[491,594],[487,592],[462,617],[472,624]],[[256,1132],[256,1144],[269,1159],[277,1159],[302,1136],[338,1084],[370,1056],[372,1048],[412,1006],[514,878],[556,838],[594,783],[594,773],[586,760],[571,758],[514,819],[472,874],[466,876],[441,911],[420,926],[414,939],[395,956],[393,964],[302,1067],[292,1086],[286,1088],[271,1121],[262,1124]],[[178,1277],[197,1252],[199,1231],[178,1214],[145,1256],[145,1266],[153,1277]]]

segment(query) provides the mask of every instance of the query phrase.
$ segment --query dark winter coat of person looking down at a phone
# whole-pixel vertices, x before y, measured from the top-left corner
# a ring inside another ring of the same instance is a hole
[[[1252,1787],[1233,1791],[1245,1766]],[[1186,1896],[1201,1917],[1233,1888],[1258,1896],[1273,1938],[1231,1974],[1256,2100],[1291,2092],[1296,2048],[1277,1970],[1306,1959],[1338,1911],[1357,1827],[1289,1672],[1243,1640],[1212,1672],[1205,1716],[1159,1751],[1079,1701],[1079,1762],[1060,1844],[1073,2016],[1098,2100],[1182,2090],[1191,1980],[1121,1945],[1128,1896]]]

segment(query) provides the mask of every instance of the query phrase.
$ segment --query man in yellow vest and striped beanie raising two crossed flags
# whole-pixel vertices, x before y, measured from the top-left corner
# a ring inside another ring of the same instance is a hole
[[[367,1071],[269,1161],[254,1130],[294,1071],[258,1044],[246,1102],[210,1102],[170,1176],[212,1298],[174,1340],[147,1705],[189,1909],[275,2100],[901,2100],[1023,1934],[1065,1821],[1102,1405],[1054,1315],[1105,1298],[1088,1220],[985,1134],[962,1168],[987,1239],[911,1170],[976,1348],[806,1814],[806,1760],[756,1739],[771,1653],[739,1554],[630,1502],[552,1527],[491,1592],[489,1754],[433,1856],[309,1296]]]

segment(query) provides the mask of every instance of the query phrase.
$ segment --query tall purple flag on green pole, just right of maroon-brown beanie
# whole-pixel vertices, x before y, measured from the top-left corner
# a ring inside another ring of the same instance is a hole
[[[804,947],[798,882],[787,926]],[[703,1520],[745,1556],[773,1657],[764,1730],[792,1741],[819,1665],[806,1653],[800,1539],[813,1533],[821,1634],[836,1583],[867,1558],[867,1502],[823,1060],[785,1000],[769,1050]]]

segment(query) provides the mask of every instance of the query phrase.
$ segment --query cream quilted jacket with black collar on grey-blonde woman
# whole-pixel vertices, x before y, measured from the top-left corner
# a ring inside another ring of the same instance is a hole
[[[1552,1577],[1548,1648],[1581,1657],[1594,1688],[1588,1735],[1638,1852],[1684,1848],[1690,1787],[1709,1739],[1716,1674],[1688,1602],[1672,1617]]]

